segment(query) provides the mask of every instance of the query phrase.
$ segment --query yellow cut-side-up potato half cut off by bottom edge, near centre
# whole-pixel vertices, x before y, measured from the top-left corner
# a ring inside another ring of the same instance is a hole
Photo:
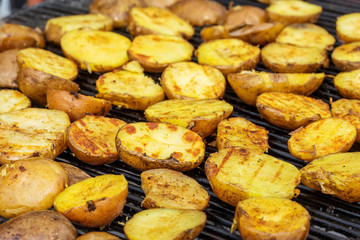
[[[136,213],[126,222],[124,231],[129,240],[191,240],[201,233],[205,223],[206,214],[201,211],[156,208]]]

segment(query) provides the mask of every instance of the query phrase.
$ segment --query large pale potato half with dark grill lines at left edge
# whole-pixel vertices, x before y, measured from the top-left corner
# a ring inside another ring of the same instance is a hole
[[[30,157],[54,159],[66,149],[63,111],[26,108],[0,114],[0,164]]]

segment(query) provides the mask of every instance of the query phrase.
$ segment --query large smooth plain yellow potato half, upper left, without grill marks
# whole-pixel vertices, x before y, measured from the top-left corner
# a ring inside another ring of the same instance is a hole
[[[60,41],[64,55],[80,69],[91,72],[109,72],[129,59],[130,39],[114,32],[74,30]],[[116,51],[114,51],[116,49]]]

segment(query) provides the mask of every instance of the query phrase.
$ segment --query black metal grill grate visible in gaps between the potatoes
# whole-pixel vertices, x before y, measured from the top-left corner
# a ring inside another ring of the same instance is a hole
[[[229,1],[221,0],[218,2],[227,6]],[[351,12],[360,12],[358,0],[345,0],[341,2],[338,2],[337,0],[310,0],[309,2],[323,7],[323,13],[317,24],[327,29],[328,32],[334,36],[336,35],[335,21],[337,16]],[[7,17],[5,21],[44,29],[46,21],[50,18],[88,13],[88,6],[90,3],[91,0],[49,0],[36,5],[35,7],[18,11]],[[261,8],[266,7],[265,4],[258,3],[255,0],[237,0],[234,1],[234,5],[236,4],[254,5]],[[201,28],[196,28],[196,33],[190,40],[195,47],[201,43],[199,34],[200,30]],[[126,29],[117,29],[115,32],[130,38]],[[335,47],[340,44],[341,43],[337,39]],[[48,44],[46,49],[63,56],[61,49],[55,45]],[[193,58],[193,61],[196,62],[196,58]],[[256,70],[268,71],[262,63],[258,65]],[[320,71],[325,72],[326,75],[336,75],[339,73],[338,69],[333,64],[331,64],[328,69],[321,69]],[[95,80],[99,76],[100,74],[98,73],[89,74],[80,70],[76,79],[76,82],[81,88],[80,92],[86,95],[95,95]],[[155,80],[158,80],[160,77],[159,74],[148,74],[148,76],[151,76]],[[320,88],[311,96],[322,99],[328,103],[330,98],[333,100],[341,98],[333,86],[331,77],[326,77]],[[271,147],[269,149],[270,155],[292,163],[297,168],[301,168],[306,165],[302,160],[294,158],[289,153],[287,148],[289,131],[277,128],[261,119],[256,108],[244,104],[236,96],[229,85],[226,88],[224,100],[234,106],[234,111],[230,117],[244,117],[257,125],[265,127],[269,131],[269,145]],[[146,121],[142,111],[120,109],[117,107],[113,107],[108,116],[119,118],[126,122]],[[210,136],[206,139],[207,142],[212,142],[213,140],[215,140],[214,136]],[[207,144],[205,159],[210,153],[216,151],[217,149],[215,147]],[[355,144],[350,151],[360,151],[360,145]],[[141,172],[126,165],[121,160],[102,166],[88,165],[77,160],[69,150],[66,150],[63,154],[57,157],[56,160],[71,163],[72,165],[83,169],[91,176],[106,173],[125,175],[129,183],[129,195],[123,210],[123,216],[116,218],[108,227],[103,229],[103,231],[107,231],[121,238],[126,238],[123,231],[125,222],[135,213],[143,210],[143,208],[140,207],[141,201],[144,198],[140,182]],[[209,207],[205,210],[205,213],[207,214],[207,223],[197,239],[241,239],[241,236],[237,231],[230,234],[230,227],[235,208],[219,200],[212,192],[209,182],[205,176],[204,163],[196,169],[185,172],[185,174],[197,180],[211,196]],[[311,215],[311,226],[308,239],[360,239],[359,202],[350,204],[338,198],[312,190],[302,184],[300,184],[298,188],[301,193],[293,200],[302,204]],[[99,230],[77,225],[76,227],[79,234],[92,230]]]

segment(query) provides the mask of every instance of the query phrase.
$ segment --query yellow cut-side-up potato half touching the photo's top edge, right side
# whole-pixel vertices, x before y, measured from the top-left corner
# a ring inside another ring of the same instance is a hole
[[[320,17],[322,7],[303,1],[275,1],[266,8],[270,21],[285,25],[314,23]]]

